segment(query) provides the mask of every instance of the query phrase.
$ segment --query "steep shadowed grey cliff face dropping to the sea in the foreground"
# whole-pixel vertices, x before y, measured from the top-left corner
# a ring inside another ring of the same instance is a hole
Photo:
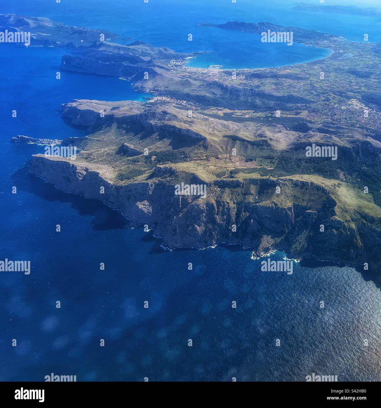
[[[377,254],[370,257],[364,250],[379,243],[378,231],[365,220],[358,225],[343,222],[329,191],[312,182],[216,180],[206,184],[205,198],[196,198],[176,196],[174,184],[160,180],[118,185],[104,166],[79,162],[34,155],[30,171],[62,191],[103,200],[126,216],[130,226],[147,224],[167,248],[242,244],[256,255],[281,249],[295,258],[379,264]],[[168,174],[168,169],[163,171]],[[289,204],[277,204],[276,186],[287,192]],[[304,199],[306,192],[313,202]]]

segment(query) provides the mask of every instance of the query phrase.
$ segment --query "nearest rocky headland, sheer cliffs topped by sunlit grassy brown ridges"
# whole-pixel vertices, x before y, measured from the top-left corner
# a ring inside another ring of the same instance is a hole
[[[228,170],[212,159],[220,160],[233,148],[257,156],[283,151],[302,157],[301,144],[322,142],[324,136],[203,115],[187,118],[186,113],[174,104],[64,104],[62,116],[91,131],[79,143],[83,150],[75,161],[34,155],[30,171],[63,191],[104,200],[131,226],[147,224],[167,248],[243,244],[256,255],[282,249],[297,258],[379,265],[375,248],[381,243],[381,209],[369,195],[339,177],[263,177],[246,162]],[[349,154],[351,139],[342,136],[342,149]],[[357,142],[357,154],[380,154],[379,142],[366,137]],[[143,153],[145,146],[149,155]],[[165,157],[170,146],[172,156]],[[206,185],[206,197],[176,195],[181,182]]]

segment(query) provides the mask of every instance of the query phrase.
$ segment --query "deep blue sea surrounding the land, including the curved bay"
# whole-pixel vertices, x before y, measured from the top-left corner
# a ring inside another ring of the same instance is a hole
[[[269,21],[381,40],[380,23],[371,18],[314,16],[291,7],[286,1],[3,0],[0,12],[104,28],[176,51],[216,51],[194,59],[198,66],[279,66],[327,52],[300,46],[269,54],[253,35],[196,27],[200,21]],[[152,231],[126,228],[101,202],[28,175],[30,156],[44,147],[10,143],[12,136],[80,136],[59,117],[61,103],[145,95],[117,78],[63,72],[56,80],[66,50],[0,45],[0,260],[31,261],[30,275],[0,273],[0,380],[43,381],[50,373],[77,381],[305,381],[312,373],[381,380],[381,293],[372,276],[311,262],[295,263],[292,275],[261,272],[260,260],[236,246],[164,251]]]

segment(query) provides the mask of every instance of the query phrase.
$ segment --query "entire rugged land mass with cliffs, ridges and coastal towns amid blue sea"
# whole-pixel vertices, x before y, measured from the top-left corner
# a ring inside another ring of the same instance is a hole
[[[227,71],[187,68],[185,61],[197,53],[141,41],[113,44],[107,40],[119,37],[114,33],[9,14],[0,15],[0,25],[36,31],[35,45],[72,48],[62,57],[64,71],[128,79],[136,89],[170,99],[64,103],[62,118],[86,129],[86,137],[12,140],[62,142],[81,152],[76,160],[33,155],[30,173],[62,191],[103,200],[130,226],[154,229],[170,249],[242,244],[254,256],[282,250],[293,258],[381,266],[381,186],[375,181],[371,194],[361,191],[366,177],[379,179],[379,173],[369,176],[366,164],[372,157],[372,171],[381,169],[381,142],[374,131],[337,126],[324,111],[325,91],[314,84],[311,93],[304,91],[307,72],[293,67],[238,71],[238,79],[232,79]],[[271,23],[202,25],[253,33],[294,29],[296,41],[322,47],[339,41],[330,57],[315,62],[317,72],[322,66],[336,68],[342,55],[355,55],[359,47],[336,36]],[[361,50],[376,58],[375,45],[361,45]],[[341,68],[337,72],[347,75]],[[274,84],[281,81],[280,91]],[[342,96],[335,82],[330,91]],[[290,119],[277,121],[281,111],[289,112],[285,117]],[[302,111],[307,116],[299,120]],[[317,111],[327,117],[315,122]],[[261,116],[255,116],[258,112]],[[336,146],[344,158],[319,167],[306,162],[306,144]],[[175,186],[183,182],[205,185],[206,197],[176,195]]]

